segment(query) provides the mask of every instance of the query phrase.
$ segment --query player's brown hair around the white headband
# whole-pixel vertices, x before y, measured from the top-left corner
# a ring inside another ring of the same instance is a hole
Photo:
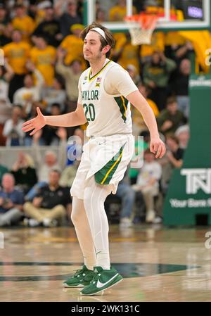
[[[103,49],[103,47],[105,47],[106,45],[109,45],[112,49],[115,46],[115,39],[113,38],[113,34],[106,27],[96,22],[91,23],[84,30],[82,30],[80,37],[83,39],[83,41],[85,37],[87,36],[87,34],[89,33],[89,31],[93,29],[94,27],[99,27],[101,30],[105,32],[105,35],[106,35],[106,39],[104,39],[104,37],[102,37],[101,34],[99,34],[100,39],[101,39],[101,49]],[[108,58],[109,56],[110,56],[110,49],[106,53],[106,57]]]

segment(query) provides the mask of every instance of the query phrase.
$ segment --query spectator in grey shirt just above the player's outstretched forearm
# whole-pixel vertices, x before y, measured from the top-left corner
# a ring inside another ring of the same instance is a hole
[[[53,79],[52,87],[46,87],[42,92],[42,100],[44,103],[46,103],[46,111],[51,113],[51,106],[55,103],[58,103],[60,106],[60,111],[63,113],[65,111],[66,99],[67,94],[65,91],[63,77],[57,75]]]

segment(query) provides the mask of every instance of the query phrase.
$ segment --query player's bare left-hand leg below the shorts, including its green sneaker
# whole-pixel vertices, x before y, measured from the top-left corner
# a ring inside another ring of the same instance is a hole
[[[84,209],[84,201],[72,198],[72,214],[71,220],[75,226],[75,232],[79,241],[79,246],[84,257],[84,265],[82,269],[70,277],[63,283],[65,287],[84,287],[91,282],[94,277],[94,266],[96,265],[96,253],[94,250],[94,242],[91,235],[87,213]]]

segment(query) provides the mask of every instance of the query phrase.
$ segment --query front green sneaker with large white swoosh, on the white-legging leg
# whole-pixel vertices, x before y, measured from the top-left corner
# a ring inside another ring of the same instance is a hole
[[[89,285],[85,286],[84,289],[80,291],[81,295],[89,296],[101,293],[123,279],[122,275],[120,275],[113,267],[110,267],[110,270],[103,270],[102,267],[95,267],[94,272],[94,278]]]

